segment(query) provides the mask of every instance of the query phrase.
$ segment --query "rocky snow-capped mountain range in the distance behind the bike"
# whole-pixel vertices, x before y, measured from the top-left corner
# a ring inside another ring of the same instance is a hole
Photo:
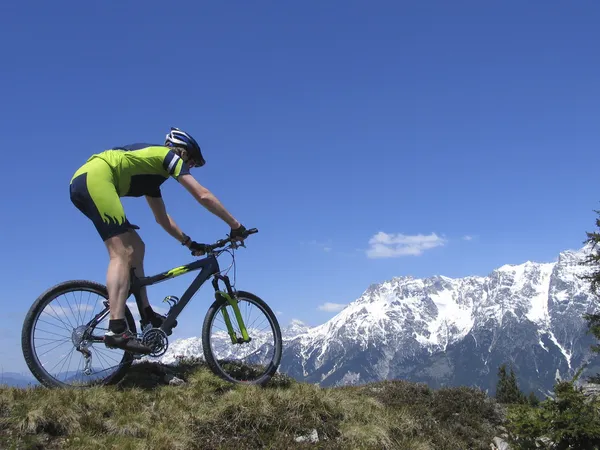
[[[324,386],[382,379],[495,391],[512,364],[526,392],[547,392],[582,363],[600,370],[582,315],[597,310],[579,278],[586,249],[555,262],[504,265],[486,277],[396,277],[374,284],[326,323],[282,330],[280,370]],[[201,355],[199,339],[176,341],[163,357]]]

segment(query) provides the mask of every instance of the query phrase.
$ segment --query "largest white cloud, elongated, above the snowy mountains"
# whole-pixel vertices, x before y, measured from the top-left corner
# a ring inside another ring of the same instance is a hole
[[[380,231],[369,239],[367,257],[395,258],[398,256],[418,256],[425,250],[443,246],[446,240],[435,233],[428,235],[388,234]]]

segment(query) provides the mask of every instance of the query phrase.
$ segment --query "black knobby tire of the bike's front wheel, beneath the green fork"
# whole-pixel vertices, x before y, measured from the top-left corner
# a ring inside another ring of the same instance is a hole
[[[229,381],[234,384],[256,384],[264,386],[273,377],[275,372],[277,372],[277,369],[279,368],[279,364],[281,362],[282,338],[279,322],[277,321],[277,318],[271,310],[271,308],[269,307],[269,305],[267,305],[264,302],[264,300],[260,299],[258,296],[246,291],[236,291],[235,294],[237,298],[245,298],[251,300],[252,303],[255,303],[262,310],[267,319],[269,319],[269,323],[273,329],[275,337],[274,356],[271,360],[270,366],[268,370],[259,378],[248,381],[241,381],[232,378],[221,369],[221,367],[216,361],[215,355],[213,354],[212,346],[210,345],[210,330],[215,315],[219,312],[221,306],[228,303],[228,301],[223,297],[219,298],[218,300],[215,300],[212,303],[212,305],[209,307],[206,313],[206,317],[204,318],[204,323],[202,326],[202,349],[204,352],[204,359],[208,367],[210,367],[210,369],[212,370],[212,372],[226,381]]]

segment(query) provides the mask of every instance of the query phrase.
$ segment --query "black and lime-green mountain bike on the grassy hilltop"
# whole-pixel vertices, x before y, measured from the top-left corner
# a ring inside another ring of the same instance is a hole
[[[256,228],[250,229],[246,237],[257,232]],[[154,276],[137,277],[131,268],[128,298],[131,295],[135,298],[140,318],[143,317],[142,287],[200,270],[181,299],[167,296],[163,300],[168,303],[169,310],[158,328],[140,320],[143,328],[138,332],[126,303],[127,325],[152,349],[149,355],[104,345],[109,320],[106,286],[93,281],[71,280],[51,287],[35,300],[23,323],[21,345],[29,369],[47,387],[86,387],[119,382],[136,359],[158,358],[166,353],[168,336],[172,334],[177,317],[212,277],[215,300],[202,325],[205,362],[216,375],[232,383],[266,384],[281,361],[281,330],[275,314],[262,299],[250,292],[236,290],[235,279],[232,285],[227,272],[234,267],[235,274],[235,250],[239,247],[245,247],[244,241],[220,239],[206,246],[206,256],[202,259]],[[225,252],[233,259],[229,268],[221,271],[217,258]],[[51,326],[54,328],[50,329]],[[47,356],[50,352],[58,355],[57,362]],[[71,363],[75,364],[74,368]]]

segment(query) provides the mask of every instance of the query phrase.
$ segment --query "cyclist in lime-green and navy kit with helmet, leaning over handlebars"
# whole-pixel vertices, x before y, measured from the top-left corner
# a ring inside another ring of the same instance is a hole
[[[92,155],[73,175],[70,182],[71,201],[92,221],[106,245],[110,259],[106,274],[110,308],[108,331],[104,336],[107,347],[135,353],[151,352],[128,329],[125,321],[129,271],[134,267],[137,276],[144,276],[145,245],[135,231],[139,227],[131,224],[126,217],[121,197],[145,196],[156,222],[188,247],[192,254],[200,256],[204,253],[204,245],[183,233],[167,214],[160,186],[167,178],[173,177],[202,206],[229,225],[231,238],[244,238],[245,227],[190,174],[190,168],[204,164],[202,151],[194,138],[185,131],[171,127],[164,145],[114,147]],[[141,300],[144,306],[142,327],[148,323],[159,327],[164,316],[157,314],[150,306],[146,288],[141,291]]]

